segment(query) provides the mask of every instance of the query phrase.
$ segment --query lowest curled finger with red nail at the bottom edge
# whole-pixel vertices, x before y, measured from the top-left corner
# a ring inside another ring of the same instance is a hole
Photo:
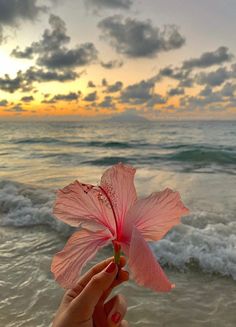
[[[125,297],[121,294],[116,295],[104,305],[104,309],[109,327],[119,326],[127,311]]]

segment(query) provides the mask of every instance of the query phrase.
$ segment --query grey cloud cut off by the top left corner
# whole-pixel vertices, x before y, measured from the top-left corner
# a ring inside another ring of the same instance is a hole
[[[37,0],[0,0],[0,24],[15,25],[19,20],[34,20],[46,6],[37,4]]]

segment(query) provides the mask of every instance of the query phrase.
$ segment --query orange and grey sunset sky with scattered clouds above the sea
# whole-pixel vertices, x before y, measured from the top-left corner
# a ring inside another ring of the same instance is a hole
[[[0,121],[236,119],[235,0],[0,0]]]

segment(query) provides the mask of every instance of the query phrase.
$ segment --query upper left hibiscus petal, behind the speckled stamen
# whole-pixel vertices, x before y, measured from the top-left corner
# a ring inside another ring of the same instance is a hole
[[[65,223],[78,227],[94,223],[111,231],[115,228],[113,213],[101,190],[75,181],[57,192],[53,214]],[[99,229],[99,228],[98,228]]]

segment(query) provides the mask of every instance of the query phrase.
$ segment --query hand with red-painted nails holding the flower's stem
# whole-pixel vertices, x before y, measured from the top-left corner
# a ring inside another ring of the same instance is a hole
[[[120,268],[124,266],[121,257]],[[118,294],[105,301],[115,286],[128,279],[128,272],[118,269],[113,257],[98,263],[65,293],[52,327],[127,327],[125,298]]]

